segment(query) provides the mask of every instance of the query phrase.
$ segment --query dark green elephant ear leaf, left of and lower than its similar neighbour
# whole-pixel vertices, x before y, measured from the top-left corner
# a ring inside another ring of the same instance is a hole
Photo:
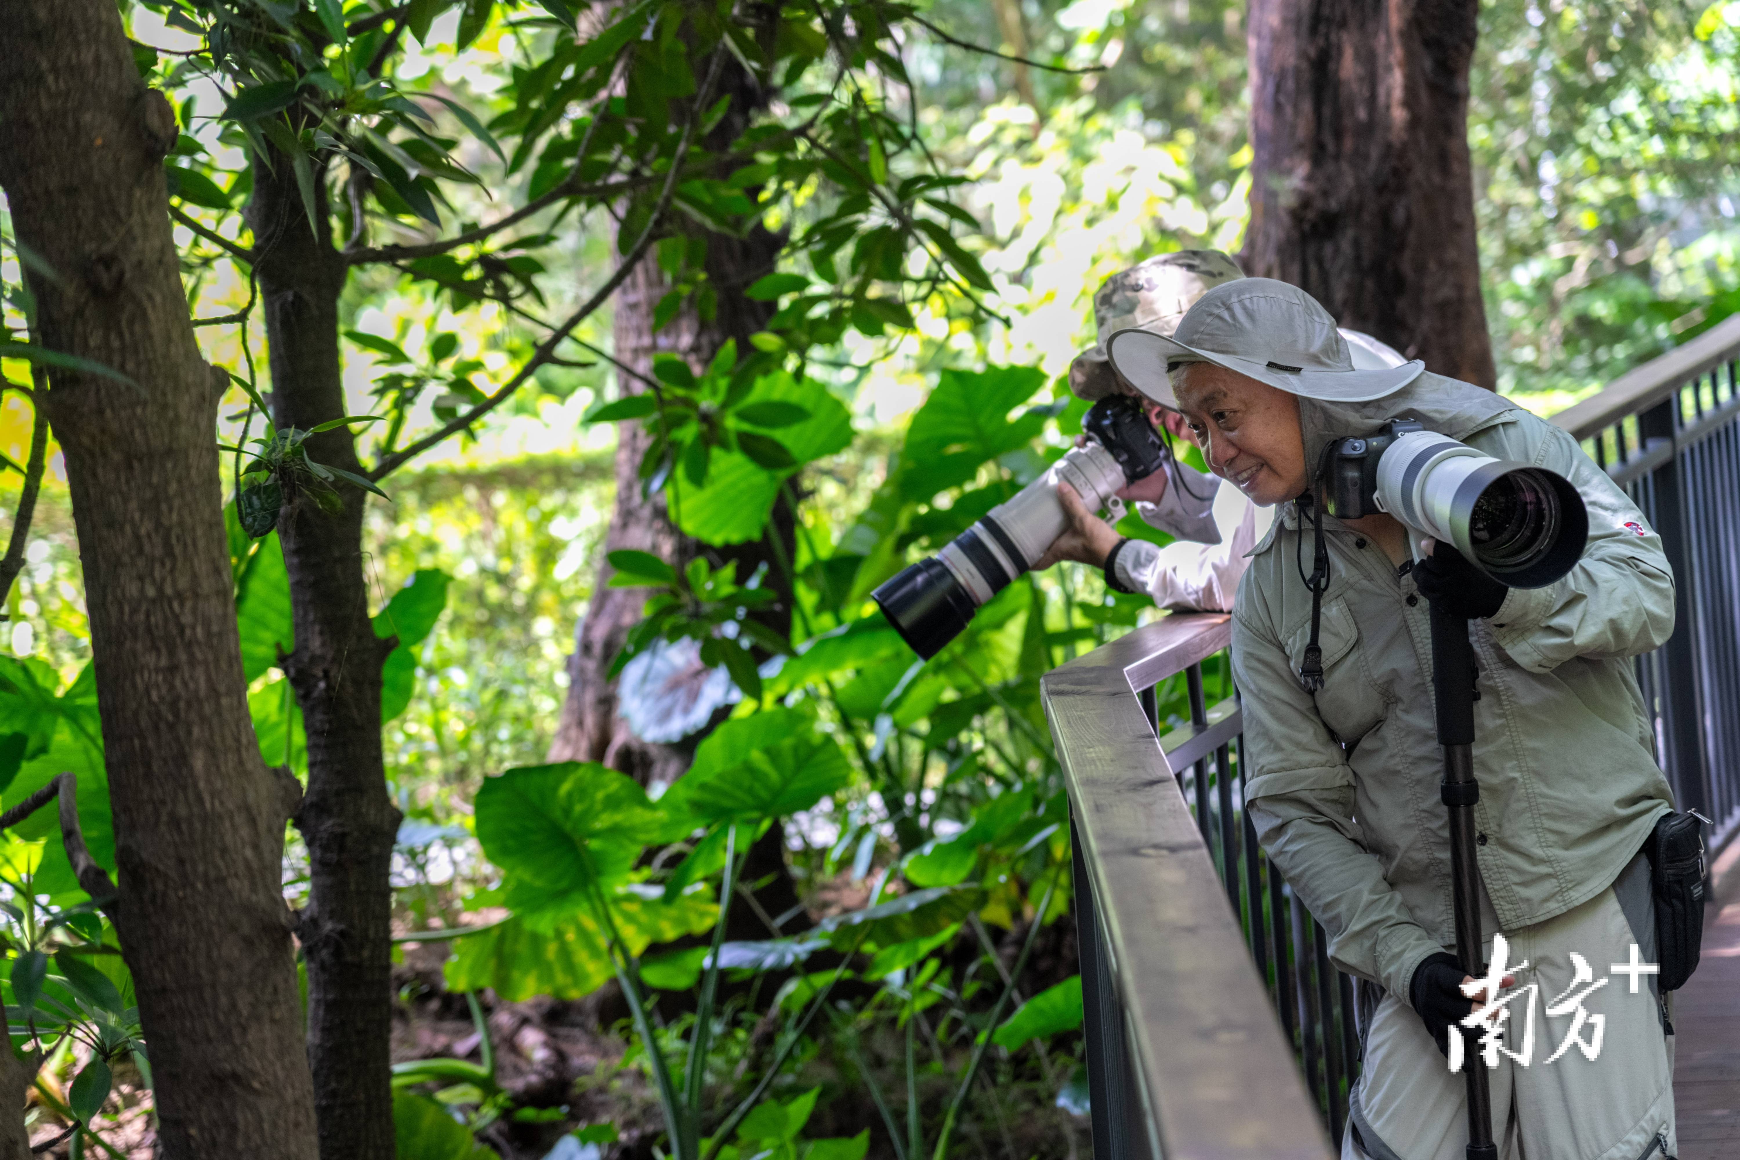
[[[510,769],[477,791],[489,861],[557,897],[623,882],[642,847],[684,831],[633,779],[595,762]]]

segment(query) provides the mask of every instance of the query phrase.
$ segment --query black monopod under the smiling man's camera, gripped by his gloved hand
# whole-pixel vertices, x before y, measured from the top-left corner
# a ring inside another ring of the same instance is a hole
[[[1432,602],[1432,685],[1437,694],[1437,741],[1444,746],[1441,795],[1449,807],[1449,875],[1456,906],[1456,958],[1479,977],[1481,958],[1481,868],[1474,861],[1474,803],[1481,786],[1474,779],[1474,645],[1469,621],[1444,612]],[[1453,1026],[1451,1035],[1467,1035]],[[1486,1068],[1474,1043],[1463,1052],[1462,1075],[1469,1083],[1469,1160],[1498,1160],[1493,1143],[1493,1097]]]

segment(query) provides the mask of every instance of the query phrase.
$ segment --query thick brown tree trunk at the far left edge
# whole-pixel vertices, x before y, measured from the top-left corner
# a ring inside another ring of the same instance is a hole
[[[218,400],[158,162],[169,103],[106,0],[0,5],[0,184],[52,367],[84,560],[120,870],[117,925],[157,1082],[160,1155],[313,1160],[291,915],[291,795],[247,715],[219,506]]]

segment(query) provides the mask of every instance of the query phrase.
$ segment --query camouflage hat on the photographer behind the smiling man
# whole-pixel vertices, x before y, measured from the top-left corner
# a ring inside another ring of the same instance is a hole
[[[1239,263],[1220,250],[1159,254],[1117,271],[1093,296],[1096,341],[1070,363],[1070,391],[1089,400],[1115,395],[1117,376],[1105,353],[1108,337],[1129,329],[1171,334],[1192,303],[1242,277]]]

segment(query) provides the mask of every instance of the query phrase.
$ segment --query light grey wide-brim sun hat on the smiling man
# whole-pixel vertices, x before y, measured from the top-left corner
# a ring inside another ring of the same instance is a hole
[[[1329,311],[1305,290],[1274,278],[1216,285],[1169,337],[1129,327],[1112,334],[1105,350],[1131,386],[1173,409],[1178,400],[1169,369],[1190,362],[1209,362],[1289,395],[1342,403],[1383,398],[1425,370],[1418,358],[1399,367],[1357,369]]]

